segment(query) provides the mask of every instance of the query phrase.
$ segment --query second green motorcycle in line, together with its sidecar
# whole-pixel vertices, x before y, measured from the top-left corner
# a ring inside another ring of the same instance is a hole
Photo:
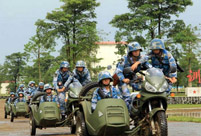
[[[61,82],[58,82],[60,88],[63,87]],[[67,118],[61,119],[60,109],[55,102],[43,102],[40,103],[39,97],[46,95],[46,93],[38,93],[33,96],[30,107],[30,135],[36,134],[36,128],[47,127],[64,127],[71,128],[71,133],[75,133],[76,119],[75,116],[79,109],[79,93],[82,85],[78,80],[72,78],[68,83],[67,97],[66,97],[66,115]]]

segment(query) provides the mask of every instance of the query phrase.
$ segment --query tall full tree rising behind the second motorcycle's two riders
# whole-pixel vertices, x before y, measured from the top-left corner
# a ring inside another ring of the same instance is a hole
[[[82,59],[93,72],[92,64],[100,59],[96,58],[99,41],[96,30],[95,8],[99,6],[95,0],[62,0],[64,5],[48,13],[46,23],[51,27],[49,31],[61,39],[64,46],[59,59],[67,60],[71,67]],[[97,68],[98,69],[98,68]]]

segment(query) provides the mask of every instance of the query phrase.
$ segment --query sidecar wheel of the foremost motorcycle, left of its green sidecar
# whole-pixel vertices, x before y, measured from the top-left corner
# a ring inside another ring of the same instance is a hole
[[[76,122],[77,122],[76,123],[76,135],[77,136],[88,136],[83,113],[77,112]]]

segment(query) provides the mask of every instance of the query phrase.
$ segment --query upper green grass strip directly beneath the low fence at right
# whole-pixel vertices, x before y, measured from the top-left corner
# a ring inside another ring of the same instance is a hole
[[[201,108],[201,104],[169,104],[168,109],[179,109],[179,108]]]

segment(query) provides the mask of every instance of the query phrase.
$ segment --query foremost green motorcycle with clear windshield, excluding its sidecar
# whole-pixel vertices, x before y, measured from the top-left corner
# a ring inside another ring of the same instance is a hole
[[[130,68],[125,68],[127,74],[135,74]],[[145,80],[138,93],[131,94],[130,117],[134,126],[141,126],[140,136],[167,136],[167,93],[168,82],[163,72],[158,68],[146,70]]]

